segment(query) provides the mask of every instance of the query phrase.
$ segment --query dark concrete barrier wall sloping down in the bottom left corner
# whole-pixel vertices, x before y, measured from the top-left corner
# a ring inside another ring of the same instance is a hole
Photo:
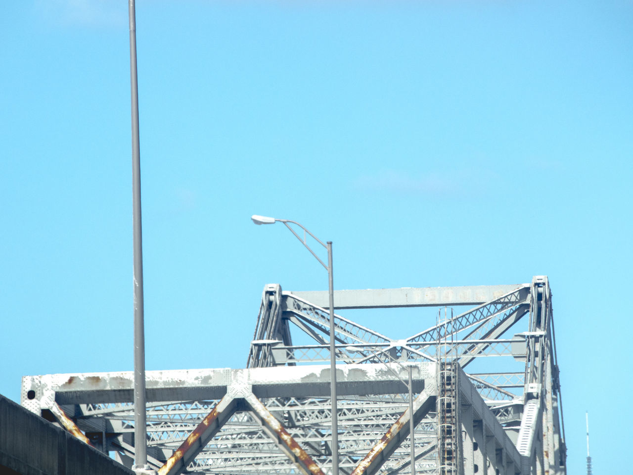
[[[0,395],[0,472],[134,475],[104,453]]]

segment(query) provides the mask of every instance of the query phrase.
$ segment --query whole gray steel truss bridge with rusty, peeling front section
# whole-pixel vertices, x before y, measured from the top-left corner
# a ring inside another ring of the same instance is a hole
[[[331,472],[327,298],[266,285],[245,369],[147,372],[147,453],[160,475]],[[334,315],[342,474],[566,474],[547,277],[342,290],[334,303],[439,308],[404,339]],[[129,467],[133,387],[132,372],[25,376],[22,405]]]

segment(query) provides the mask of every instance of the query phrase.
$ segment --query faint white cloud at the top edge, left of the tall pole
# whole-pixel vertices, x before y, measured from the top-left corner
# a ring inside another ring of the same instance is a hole
[[[35,8],[49,22],[63,26],[127,25],[127,2],[113,0],[36,0]]]

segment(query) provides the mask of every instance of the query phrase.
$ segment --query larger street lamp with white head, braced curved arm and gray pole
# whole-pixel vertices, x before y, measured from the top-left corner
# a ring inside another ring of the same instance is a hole
[[[303,225],[299,224],[296,221],[292,221],[289,219],[275,219],[270,218],[268,216],[260,216],[253,215],[251,216],[251,220],[253,220],[254,224],[275,224],[276,222],[284,223],[285,227],[290,229],[290,232],[296,236],[301,244],[305,246],[305,248],[310,251],[311,255],[313,255],[318,262],[321,263],[325,270],[327,270],[327,274],[330,282],[330,388],[331,388],[331,399],[332,399],[332,475],[339,475],[339,427],[337,420],[337,407],[336,407],[336,348],[335,348],[335,339],[334,339],[334,275],[332,271],[332,241],[327,241],[327,244],[323,244],[319,238],[317,238],[314,234],[308,231]],[[303,239],[301,236],[292,229],[292,227],[288,224],[296,224],[301,229],[303,229]],[[327,265],[315,254],[315,251],[311,250],[308,243],[306,243],[306,233],[310,234],[312,238],[316,240],[317,243],[321,244],[324,248],[327,249]]]

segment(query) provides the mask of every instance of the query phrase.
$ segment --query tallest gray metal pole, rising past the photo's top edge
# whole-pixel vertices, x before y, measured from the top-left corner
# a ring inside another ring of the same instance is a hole
[[[136,70],[136,9],[129,0],[130,88],[132,89],[132,227],[134,228],[134,467],[147,466],[145,402],[145,324],[143,305],[143,246],[141,229],[141,151],[139,84]]]

